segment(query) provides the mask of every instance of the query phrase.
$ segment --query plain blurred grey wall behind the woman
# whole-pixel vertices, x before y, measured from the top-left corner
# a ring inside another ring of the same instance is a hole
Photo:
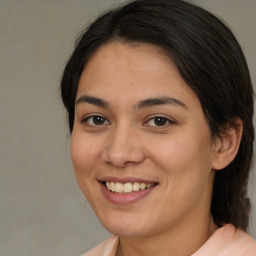
[[[118,2],[0,0],[1,256],[75,256],[108,236],[75,181],[58,84],[76,35]],[[256,84],[256,0],[191,2],[230,25]]]

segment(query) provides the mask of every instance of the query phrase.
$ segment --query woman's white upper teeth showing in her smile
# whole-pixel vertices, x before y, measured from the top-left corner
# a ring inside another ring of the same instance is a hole
[[[153,183],[119,183],[119,182],[106,182],[106,187],[108,190],[116,193],[131,193],[139,190],[145,190],[146,188],[151,188]]]

